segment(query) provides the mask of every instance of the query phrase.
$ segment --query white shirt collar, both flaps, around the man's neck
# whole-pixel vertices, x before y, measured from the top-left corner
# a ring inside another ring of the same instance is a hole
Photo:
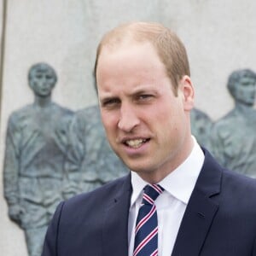
[[[167,193],[176,197],[177,200],[183,201],[185,204],[189,202],[190,195],[195,187],[197,177],[201,172],[201,167],[205,159],[203,151],[196,142],[195,137],[192,138],[194,147],[188,158],[159,183]],[[137,201],[137,198],[142,194],[143,188],[147,184],[137,172],[131,172],[131,206]]]

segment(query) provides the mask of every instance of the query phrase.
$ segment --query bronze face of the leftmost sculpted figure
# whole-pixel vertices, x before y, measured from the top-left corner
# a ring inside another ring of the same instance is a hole
[[[50,96],[51,90],[55,86],[55,75],[47,68],[38,68],[32,73],[30,86],[36,96]]]

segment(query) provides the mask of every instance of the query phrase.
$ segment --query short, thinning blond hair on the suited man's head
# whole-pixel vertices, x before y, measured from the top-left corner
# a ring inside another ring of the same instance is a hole
[[[154,22],[130,22],[107,32],[96,50],[95,78],[102,48],[108,46],[114,49],[126,39],[132,39],[138,43],[149,42],[154,46],[166,67],[166,73],[171,79],[174,92],[177,93],[180,79],[184,75],[190,76],[188,55],[183,43],[174,32]]]

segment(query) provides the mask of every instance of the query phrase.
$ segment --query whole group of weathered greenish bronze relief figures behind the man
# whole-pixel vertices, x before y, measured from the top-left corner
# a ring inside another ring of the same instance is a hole
[[[38,256],[60,201],[96,189],[128,170],[108,144],[98,106],[73,113],[52,102],[57,77],[45,63],[32,66],[28,79],[35,101],[9,117],[4,195],[9,218],[25,230],[29,255]],[[256,177],[255,74],[232,73],[228,88],[236,107],[213,125],[195,108],[192,133],[221,164]]]

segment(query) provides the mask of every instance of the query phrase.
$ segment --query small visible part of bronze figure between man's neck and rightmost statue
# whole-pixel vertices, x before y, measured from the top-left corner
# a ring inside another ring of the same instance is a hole
[[[209,116],[197,108],[190,112],[191,132],[201,146],[207,146],[212,128],[212,120]]]

